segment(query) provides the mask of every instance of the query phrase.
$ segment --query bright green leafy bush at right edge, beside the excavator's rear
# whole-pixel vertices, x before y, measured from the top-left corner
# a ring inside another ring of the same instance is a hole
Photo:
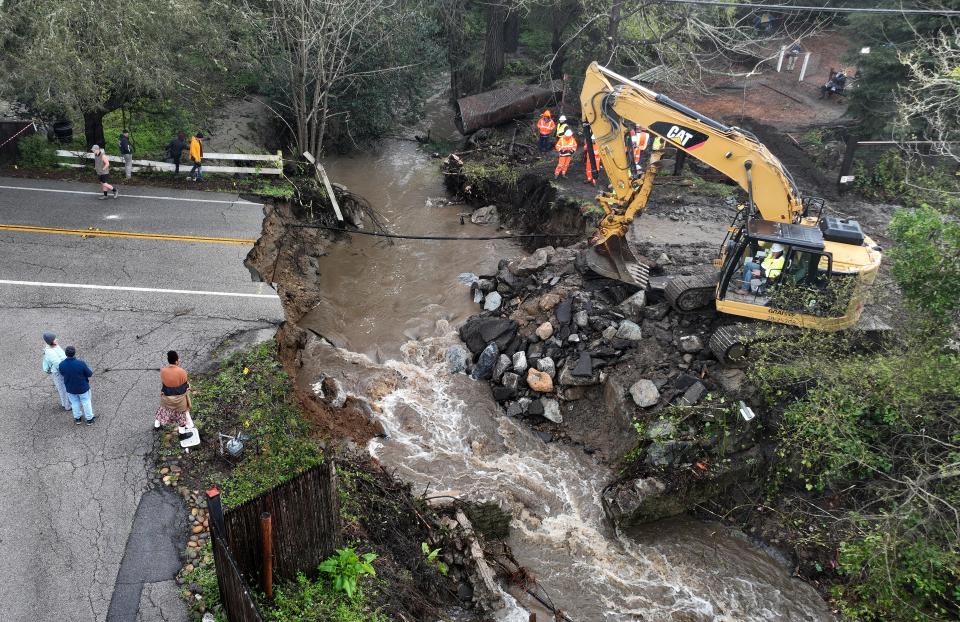
[[[890,220],[897,242],[888,253],[904,296],[937,320],[960,310],[960,223],[928,205],[897,210]]]

